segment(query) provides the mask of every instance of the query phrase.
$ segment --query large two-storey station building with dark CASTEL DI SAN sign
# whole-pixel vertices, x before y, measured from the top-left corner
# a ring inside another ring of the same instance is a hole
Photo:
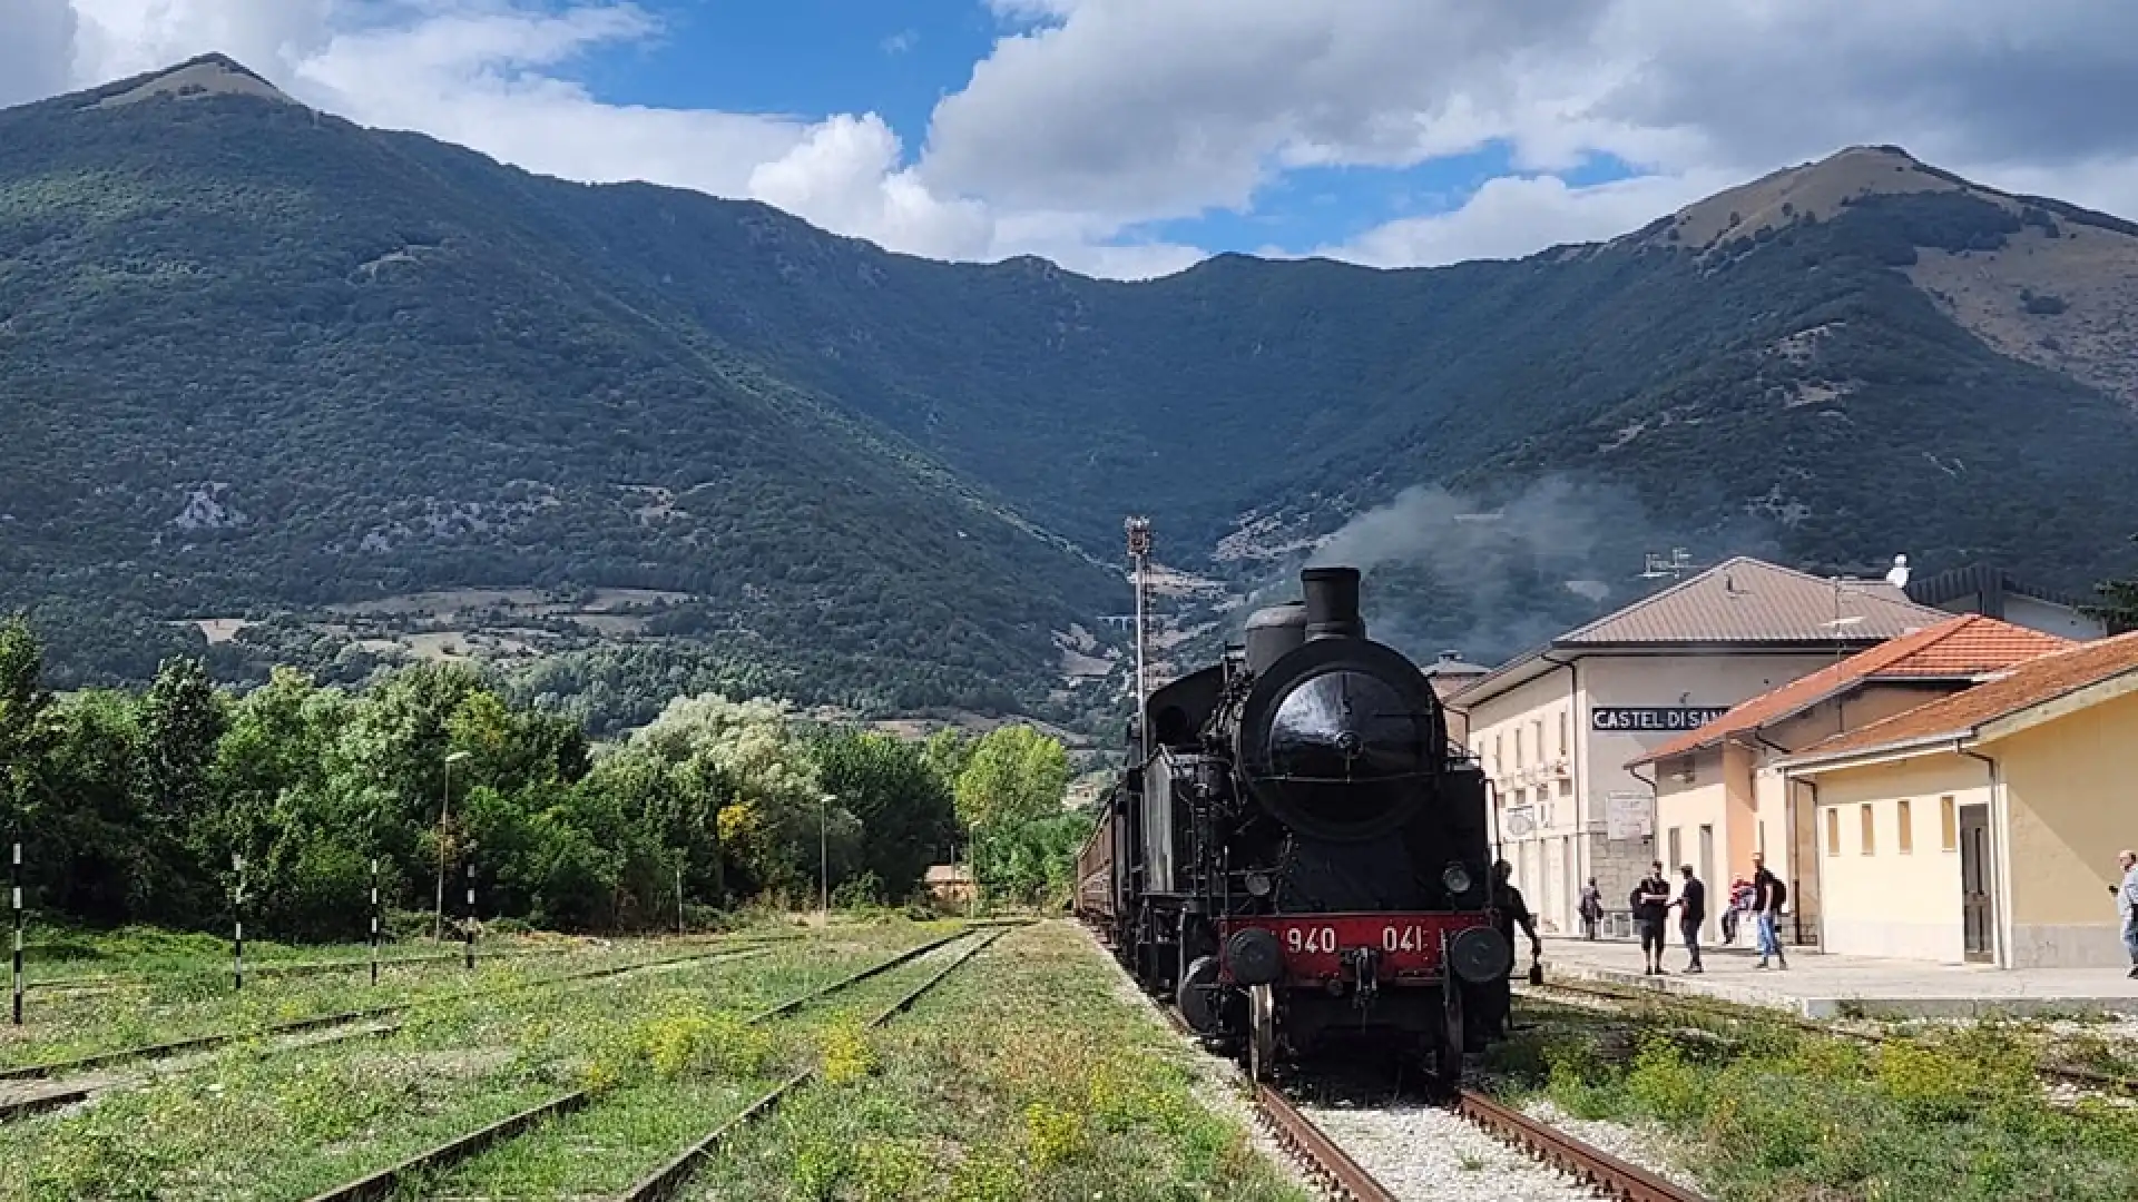
[[[1668,851],[1655,838],[1655,779],[1629,759],[1948,618],[1884,580],[1732,558],[1458,689],[1447,704],[1492,781],[1501,856],[1539,926],[1578,930],[1574,907],[1591,877],[1606,909],[1623,911]],[[1708,862],[1721,856],[1706,849]]]

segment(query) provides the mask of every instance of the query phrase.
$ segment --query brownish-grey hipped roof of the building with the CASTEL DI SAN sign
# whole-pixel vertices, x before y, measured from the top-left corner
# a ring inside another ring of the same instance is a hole
[[[1834,582],[1738,556],[1567,631],[1552,646],[1871,644],[1950,616],[1884,580]]]

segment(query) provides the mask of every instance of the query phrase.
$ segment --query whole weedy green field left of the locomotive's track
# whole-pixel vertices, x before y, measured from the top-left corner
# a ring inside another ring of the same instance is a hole
[[[400,1183],[400,1198],[614,1198],[780,1080],[815,1076],[697,1168],[686,1198],[1302,1198],[1212,1108],[1187,1052],[1140,1014],[1082,933],[902,918],[718,939],[263,975],[227,958],[107,956],[148,984],[32,992],[0,1069],[389,1014],[167,1059],[0,1082],[0,1101],[94,1084],[0,1123],[4,1200],[310,1198],[537,1104],[577,1110]],[[898,952],[904,960],[797,1007]],[[650,965],[631,969],[633,965]],[[594,971],[609,975],[586,975]],[[911,1012],[868,1027],[949,969]]]

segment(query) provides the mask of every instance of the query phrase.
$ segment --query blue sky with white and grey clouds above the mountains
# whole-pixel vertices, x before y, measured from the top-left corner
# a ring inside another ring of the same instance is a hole
[[[0,0],[0,105],[205,51],[530,171],[1116,278],[1520,257],[1854,143],[2138,216],[2100,0]]]

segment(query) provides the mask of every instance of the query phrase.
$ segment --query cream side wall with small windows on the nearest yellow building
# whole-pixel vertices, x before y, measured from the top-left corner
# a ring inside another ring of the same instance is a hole
[[[1988,804],[1980,761],[1939,753],[1817,776],[1819,945],[1843,956],[1967,960],[1961,853],[1943,843],[1941,798]],[[1901,849],[1901,800],[1909,849]],[[1862,813],[1871,811],[1871,847]],[[1839,849],[1834,838],[1839,836]],[[2104,900],[2106,894],[2104,894]]]

